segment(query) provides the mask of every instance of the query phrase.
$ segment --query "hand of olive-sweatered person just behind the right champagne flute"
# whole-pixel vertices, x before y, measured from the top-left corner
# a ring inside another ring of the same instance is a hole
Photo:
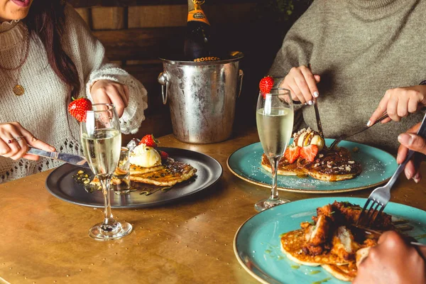
[[[312,74],[309,67],[293,67],[279,87],[290,89],[293,101],[313,104],[313,99],[320,95],[317,88],[320,80],[320,75]]]

